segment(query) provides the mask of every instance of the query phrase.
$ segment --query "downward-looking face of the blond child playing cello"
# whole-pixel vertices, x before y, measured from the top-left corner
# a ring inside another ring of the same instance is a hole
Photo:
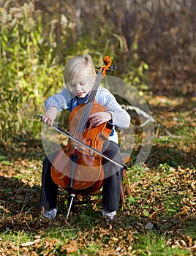
[[[75,79],[69,83],[69,89],[72,94],[78,96],[78,98],[86,97],[89,91],[91,91],[96,75],[89,75],[88,70],[81,70],[75,76]]]

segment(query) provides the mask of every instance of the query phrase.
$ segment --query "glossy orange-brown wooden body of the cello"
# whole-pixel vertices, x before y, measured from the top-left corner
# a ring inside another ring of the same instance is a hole
[[[69,116],[69,133],[75,135],[78,122],[83,116],[86,104],[78,105]],[[106,112],[102,105],[94,102],[91,113]],[[91,114],[90,113],[90,114]],[[86,129],[78,133],[78,139],[91,148],[102,151],[102,145],[108,140],[112,126],[108,122],[89,129],[88,121]],[[91,194],[102,187],[104,171],[102,157],[88,148],[77,145],[69,139],[67,146],[61,148],[51,167],[53,181],[69,192],[80,195]]]

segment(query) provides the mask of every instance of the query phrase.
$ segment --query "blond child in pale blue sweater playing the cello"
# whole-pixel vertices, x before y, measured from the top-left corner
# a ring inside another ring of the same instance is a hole
[[[68,109],[71,113],[76,106],[86,103],[95,79],[96,73],[91,56],[84,54],[83,56],[69,59],[64,67],[64,83],[67,85],[67,88],[46,100],[46,112],[42,117],[42,121],[48,126],[52,126],[59,111]],[[109,122],[113,126],[113,131],[109,139],[103,143],[102,153],[123,163],[117,144],[118,136],[115,127],[121,129],[129,127],[130,116],[116,102],[113,94],[102,86],[99,86],[95,99],[99,105],[105,107],[107,112],[91,114],[88,120],[90,123],[89,129]],[[45,157],[42,167],[42,187],[38,207],[44,207],[43,216],[49,219],[56,217],[57,212],[58,185],[54,183],[50,175],[51,163],[57,153],[54,152]],[[112,220],[116,216],[116,210],[118,210],[123,168],[109,162],[104,157],[102,158],[102,166],[105,174],[102,188],[102,215]]]

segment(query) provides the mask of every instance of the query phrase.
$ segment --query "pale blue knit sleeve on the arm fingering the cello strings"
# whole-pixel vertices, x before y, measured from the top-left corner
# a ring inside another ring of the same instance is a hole
[[[121,105],[116,101],[116,98],[113,94],[100,87],[97,91],[97,103],[105,107],[105,109],[112,115],[112,123],[114,126],[120,129],[126,129],[130,124],[130,116],[126,110],[121,108]]]

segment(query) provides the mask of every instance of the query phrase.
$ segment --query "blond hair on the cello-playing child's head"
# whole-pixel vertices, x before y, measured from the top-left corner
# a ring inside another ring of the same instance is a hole
[[[88,70],[88,75],[95,74],[94,62],[89,54],[69,59],[64,67],[64,83],[67,84],[74,80],[78,72],[83,69]]]

